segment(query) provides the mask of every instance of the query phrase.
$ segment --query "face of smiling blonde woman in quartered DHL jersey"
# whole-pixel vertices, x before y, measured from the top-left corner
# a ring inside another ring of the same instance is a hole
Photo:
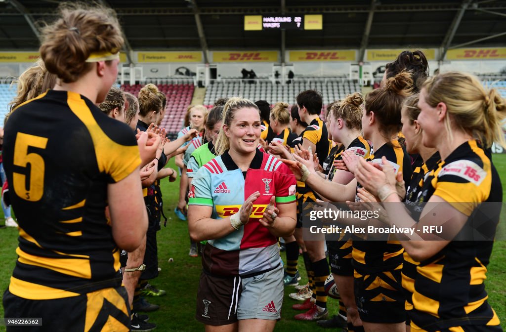
[[[234,112],[230,126],[224,125],[225,135],[230,140],[230,150],[239,154],[255,152],[262,129],[258,109],[244,107]]]

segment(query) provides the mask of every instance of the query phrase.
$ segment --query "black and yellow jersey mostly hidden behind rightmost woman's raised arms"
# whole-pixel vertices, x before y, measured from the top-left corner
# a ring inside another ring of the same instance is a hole
[[[423,160],[418,156],[416,160]],[[439,152],[434,153],[426,162],[422,162],[419,166],[415,167],[411,175],[408,189],[406,191],[406,204],[412,206],[413,210],[411,217],[417,221],[421,213],[421,206],[419,203],[427,202],[430,197],[422,195],[424,180],[429,177],[430,172],[438,167],[441,161]],[[415,163],[416,164],[416,163]],[[404,252],[404,262],[402,264],[402,288],[404,289],[404,297],[406,299],[405,309],[413,309],[411,297],[414,291],[414,278],[416,277],[416,267],[418,262],[414,261],[407,252]]]

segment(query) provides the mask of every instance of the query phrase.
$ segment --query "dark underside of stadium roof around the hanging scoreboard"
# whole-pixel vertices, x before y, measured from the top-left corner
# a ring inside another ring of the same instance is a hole
[[[130,50],[279,50],[506,45],[504,0],[98,0]],[[0,0],[0,49],[38,48],[60,1]],[[244,15],[322,14],[322,30],[244,31]],[[284,39],[284,43],[283,43]],[[283,45],[284,44],[284,45]]]

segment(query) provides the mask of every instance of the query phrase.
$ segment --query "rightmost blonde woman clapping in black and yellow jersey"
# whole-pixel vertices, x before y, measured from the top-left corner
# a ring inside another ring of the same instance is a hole
[[[418,229],[441,226],[438,241],[402,242],[420,262],[411,297],[411,331],[502,331],[484,285],[500,215],[500,204],[492,202],[502,201],[502,187],[480,146],[506,146],[501,129],[506,102],[494,89],[485,90],[475,76],[447,72],[425,81],[418,107],[422,143],[441,155],[420,189],[423,201],[432,204],[416,205],[423,210],[415,219],[403,206],[385,204],[388,215],[396,216],[387,221],[390,225],[416,226],[406,239],[434,239]],[[394,188],[399,179],[389,174],[389,167],[381,172],[370,166],[360,162],[357,167],[364,188],[381,201],[399,202]],[[474,222],[486,240],[469,236],[476,234],[470,231]]]

